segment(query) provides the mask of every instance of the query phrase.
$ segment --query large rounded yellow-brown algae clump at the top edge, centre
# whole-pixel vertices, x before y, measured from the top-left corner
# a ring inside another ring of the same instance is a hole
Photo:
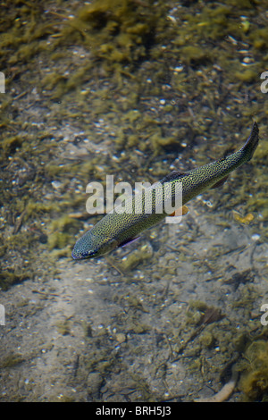
[[[97,1],[80,10],[78,21],[72,21],[71,25],[88,29],[85,41],[97,56],[113,63],[135,62],[146,57],[163,13],[163,6],[150,13],[150,3]],[[94,39],[96,33],[98,37]]]

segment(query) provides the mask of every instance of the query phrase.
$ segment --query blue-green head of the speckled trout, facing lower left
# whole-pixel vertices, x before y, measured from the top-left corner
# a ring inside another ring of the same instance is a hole
[[[115,239],[96,235],[88,231],[75,244],[71,256],[73,259],[94,258],[103,256],[118,246]]]

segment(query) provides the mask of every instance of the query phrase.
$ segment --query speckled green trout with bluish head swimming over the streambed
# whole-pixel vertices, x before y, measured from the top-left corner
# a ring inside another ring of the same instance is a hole
[[[165,211],[158,213],[155,203],[159,194],[163,199],[163,186],[166,183],[170,184],[172,199],[174,198],[176,185],[178,186],[178,183],[180,183],[182,214],[186,214],[188,208],[185,205],[189,200],[207,189],[221,187],[230,172],[250,161],[258,145],[258,133],[258,125],[254,122],[246,143],[238,151],[230,155],[224,155],[217,161],[188,172],[172,171],[169,173],[163,180],[156,183],[156,187],[151,187],[153,206],[151,206],[152,211],[150,213],[147,212],[147,196],[143,191],[138,196],[139,204],[142,207],[140,213],[135,213],[133,201],[130,199],[126,201],[125,206],[126,208],[129,206],[129,209],[132,206],[132,212],[118,214],[114,209],[114,211],[105,214],[95,226],[77,240],[71,253],[72,258],[80,260],[103,256],[115,248],[123,247],[138,239],[143,231],[162,221],[168,214]],[[174,213],[172,212],[172,214]]]

